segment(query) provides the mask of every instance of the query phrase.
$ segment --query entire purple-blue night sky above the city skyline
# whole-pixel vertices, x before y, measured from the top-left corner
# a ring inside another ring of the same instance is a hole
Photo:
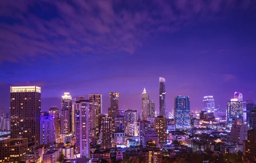
[[[172,3],[169,3],[171,1]],[[214,96],[225,110],[235,91],[256,99],[255,0],[2,0],[0,108],[10,86],[42,87],[42,111],[61,96],[109,92],[141,110],[144,87],[159,111],[190,97],[192,110]]]

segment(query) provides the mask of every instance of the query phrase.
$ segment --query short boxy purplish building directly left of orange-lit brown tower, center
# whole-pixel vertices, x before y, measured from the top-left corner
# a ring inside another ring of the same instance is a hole
[[[143,148],[158,148],[157,131],[145,131],[142,136]]]

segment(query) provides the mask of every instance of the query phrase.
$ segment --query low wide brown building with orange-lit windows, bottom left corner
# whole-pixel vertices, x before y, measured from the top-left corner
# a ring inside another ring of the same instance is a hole
[[[27,138],[5,139],[0,141],[0,162],[18,163],[26,159]]]

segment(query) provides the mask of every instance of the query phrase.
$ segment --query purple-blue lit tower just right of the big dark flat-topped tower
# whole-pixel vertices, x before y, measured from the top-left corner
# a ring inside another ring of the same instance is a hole
[[[41,145],[52,145],[55,143],[56,135],[55,135],[55,126],[54,126],[54,118],[47,114],[41,115]]]

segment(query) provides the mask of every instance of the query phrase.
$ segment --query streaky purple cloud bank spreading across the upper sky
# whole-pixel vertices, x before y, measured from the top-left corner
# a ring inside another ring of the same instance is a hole
[[[184,25],[211,20],[219,13],[252,10],[254,2],[149,0],[147,3],[5,0],[0,10],[0,19],[5,20],[0,21],[0,62],[86,55],[88,51],[102,55],[134,53],[152,33],[174,33]]]

